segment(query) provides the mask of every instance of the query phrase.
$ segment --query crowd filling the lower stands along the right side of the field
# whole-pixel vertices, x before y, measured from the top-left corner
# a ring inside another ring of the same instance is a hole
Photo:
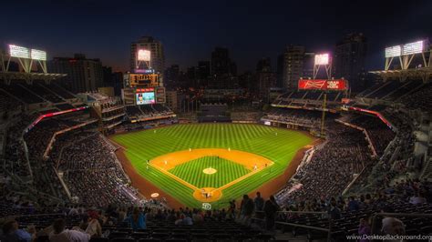
[[[299,167],[276,197],[289,204],[307,197],[339,196],[372,162],[364,134],[334,122],[327,126],[325,145],[314,150],[311,160]]]

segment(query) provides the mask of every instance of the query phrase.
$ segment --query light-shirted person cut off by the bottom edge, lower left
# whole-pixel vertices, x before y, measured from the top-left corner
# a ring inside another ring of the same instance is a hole
[[[90,235],[77,231],[66,229],[66,222],[63,218],[58,218],[54,221],[53,232],[49,234],[51,242],[87,242]]]

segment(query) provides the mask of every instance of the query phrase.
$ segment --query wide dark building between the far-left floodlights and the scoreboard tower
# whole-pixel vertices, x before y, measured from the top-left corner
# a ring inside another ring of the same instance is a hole
[[[99,59],[87,59],[86,55],[55,57],[48,62],[48,71],[67,74],[60,84],[72,92],[96,91],[104,86],[102,63]]]

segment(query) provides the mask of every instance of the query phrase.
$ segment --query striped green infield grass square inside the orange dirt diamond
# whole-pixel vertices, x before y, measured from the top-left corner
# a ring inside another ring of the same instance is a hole
[[[215,174],[204,174],[205,168],[214,168]],[[218,156],[204,156],[175,166],[169,170],[175,176],[195,187],[222,187],[231,181],[251,172],[246,167]]]

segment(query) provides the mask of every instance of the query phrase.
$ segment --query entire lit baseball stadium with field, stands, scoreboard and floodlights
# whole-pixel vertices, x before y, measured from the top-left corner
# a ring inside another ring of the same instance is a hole
[[[353,56],[365,36],[346,39]],[[427,38],[350,78],[341,52],[289,45],[278,59],[304,72],[283,87],[265,58],[158,69],[162,46],[132,42],[120,73],[0,45],[1,242],[430,241]]]

